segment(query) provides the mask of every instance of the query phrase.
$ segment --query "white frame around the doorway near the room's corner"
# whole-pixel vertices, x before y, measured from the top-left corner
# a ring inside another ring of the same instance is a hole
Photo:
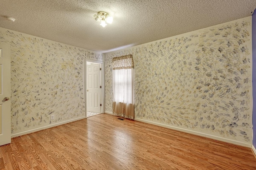
[[[97,61],[97,60],[92,60],[92,59],[84,59],[84,105],[85,105],[85,117],[87,118],[87,95],[86,95],[86,63],[92,62],[92,63],[99,63],[101,67],[101,72],[100,72],[100,85],[102,86],[100,90],[100,104],[102,106],[100,107],[100,113],[105,113],[105,64],[104,61]]]

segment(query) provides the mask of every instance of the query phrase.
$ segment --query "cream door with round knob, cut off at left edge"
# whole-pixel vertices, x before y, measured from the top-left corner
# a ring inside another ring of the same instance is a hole
[[[10,45],[0,43],[0,146],[11,143]]]

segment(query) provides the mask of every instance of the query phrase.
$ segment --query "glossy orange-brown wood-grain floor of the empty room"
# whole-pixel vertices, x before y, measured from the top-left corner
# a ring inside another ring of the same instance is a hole
[[[250,148],[100,114],[12,139],[0,170],[256,170]]]

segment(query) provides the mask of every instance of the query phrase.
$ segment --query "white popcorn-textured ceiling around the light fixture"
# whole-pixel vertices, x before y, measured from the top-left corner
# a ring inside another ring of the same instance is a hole
[[[0,2],[0,27],[102,53],[251,16],[256,8],[256,0]],[[108,12],[113,23],[100,26],[93,18],[98,11]]]

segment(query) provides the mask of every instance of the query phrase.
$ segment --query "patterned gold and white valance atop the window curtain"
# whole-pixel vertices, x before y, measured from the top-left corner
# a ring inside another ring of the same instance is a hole
[[[134,68],[132,55],[123,55],[120,57],[114,57],[112,59],[112,69],[127,69],[127,68]]]

